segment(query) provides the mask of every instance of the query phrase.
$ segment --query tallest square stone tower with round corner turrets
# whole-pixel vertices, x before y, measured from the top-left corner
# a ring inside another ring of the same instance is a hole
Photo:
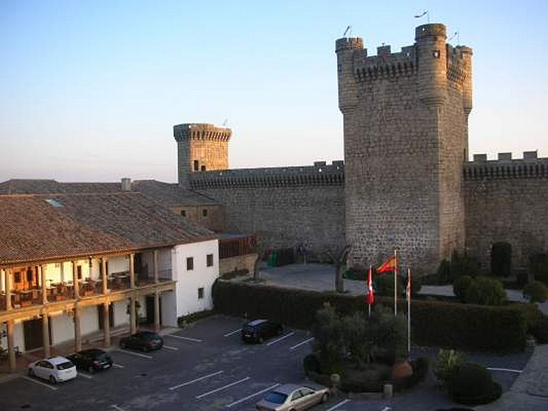
[[[336,54],[349,263],[374,266],[396,248],[402,268],[435,269],[464,248],[472,51],[427,24],[399,53],[368,56],[361,38],[340,38]]]

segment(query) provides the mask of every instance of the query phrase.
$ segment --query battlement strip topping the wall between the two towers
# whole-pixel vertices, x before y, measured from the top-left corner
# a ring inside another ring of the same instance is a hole
[[[313,166],[234,169],[195,173],[190,188],[282,187],[282,186],[343,186],[345,163],[314,162]]]

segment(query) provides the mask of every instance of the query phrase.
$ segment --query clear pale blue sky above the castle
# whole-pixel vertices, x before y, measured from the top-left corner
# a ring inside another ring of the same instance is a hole
[[[334,41],[423,10],[473,48],[471,153],[548,157],[546,0],[1,0],[0,181],[175,182],[173,125],[225,119],[232,168],[342,159]]]

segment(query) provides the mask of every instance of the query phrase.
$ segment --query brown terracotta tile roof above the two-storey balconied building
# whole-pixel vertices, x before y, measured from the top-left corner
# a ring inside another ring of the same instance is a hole
[[[0,196],[0,264],[216,238],[137,192]]]

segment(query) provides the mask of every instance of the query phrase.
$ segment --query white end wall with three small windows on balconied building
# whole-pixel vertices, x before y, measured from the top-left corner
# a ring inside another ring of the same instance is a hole
[[[206,266],[206,256],[213,255],[213,265]],[[194,258],[194,268],[186,269],[186,259]],[[209,240],[177,245],[171,251],[171,268],[175,285],[177,317],[213,308],[212,286],[219,277],[219,241]],[[198,289],[203,288],[203,298]]]

